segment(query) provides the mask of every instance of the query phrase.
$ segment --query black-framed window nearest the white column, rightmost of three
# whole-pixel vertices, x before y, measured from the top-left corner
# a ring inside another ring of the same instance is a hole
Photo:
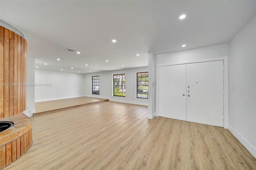
[[[148,98],[148,72],[137,72],[137,98]]]

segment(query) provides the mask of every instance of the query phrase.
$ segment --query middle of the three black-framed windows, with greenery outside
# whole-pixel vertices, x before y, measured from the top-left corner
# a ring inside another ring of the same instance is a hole
[[[114,74],[114,96],[125,97],[125,74]]]

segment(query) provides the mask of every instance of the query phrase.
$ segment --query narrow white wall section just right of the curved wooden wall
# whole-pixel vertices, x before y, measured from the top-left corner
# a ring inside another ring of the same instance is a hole
[[[35,59],[27,57],[26,84],[35,82]],[[29,117],[35,113],[35,87],[26,86],[26,110],[23,113]]]

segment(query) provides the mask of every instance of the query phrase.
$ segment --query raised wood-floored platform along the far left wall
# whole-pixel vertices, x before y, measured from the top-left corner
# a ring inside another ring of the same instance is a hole
[[[79,97],[79,98],[69,98],[61,100],[51,100],[46,102],[36,102],[35,108],[36,113],[46,113],[49,111],[57,111],[59,109],[72,108],[76,106],[82,106],[86,104],[92,104],[95,102],[105,102],[108,99],[101,98],[90,98],[90,97]]]

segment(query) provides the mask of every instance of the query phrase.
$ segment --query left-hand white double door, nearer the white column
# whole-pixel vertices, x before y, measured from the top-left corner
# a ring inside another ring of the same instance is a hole
[[[158,78],[159,116],[186,120],[186,64],[160,66]]]

